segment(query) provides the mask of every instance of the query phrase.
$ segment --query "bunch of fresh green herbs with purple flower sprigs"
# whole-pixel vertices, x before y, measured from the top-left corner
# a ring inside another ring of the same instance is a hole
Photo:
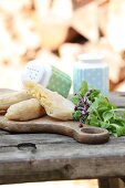
[[[125,109],[113,105],[98,90],[88,90],[83,82],[80,92],[72,97],[75,104],[73,118],[82,124],[103,127],[114,136],[125,135]]]

